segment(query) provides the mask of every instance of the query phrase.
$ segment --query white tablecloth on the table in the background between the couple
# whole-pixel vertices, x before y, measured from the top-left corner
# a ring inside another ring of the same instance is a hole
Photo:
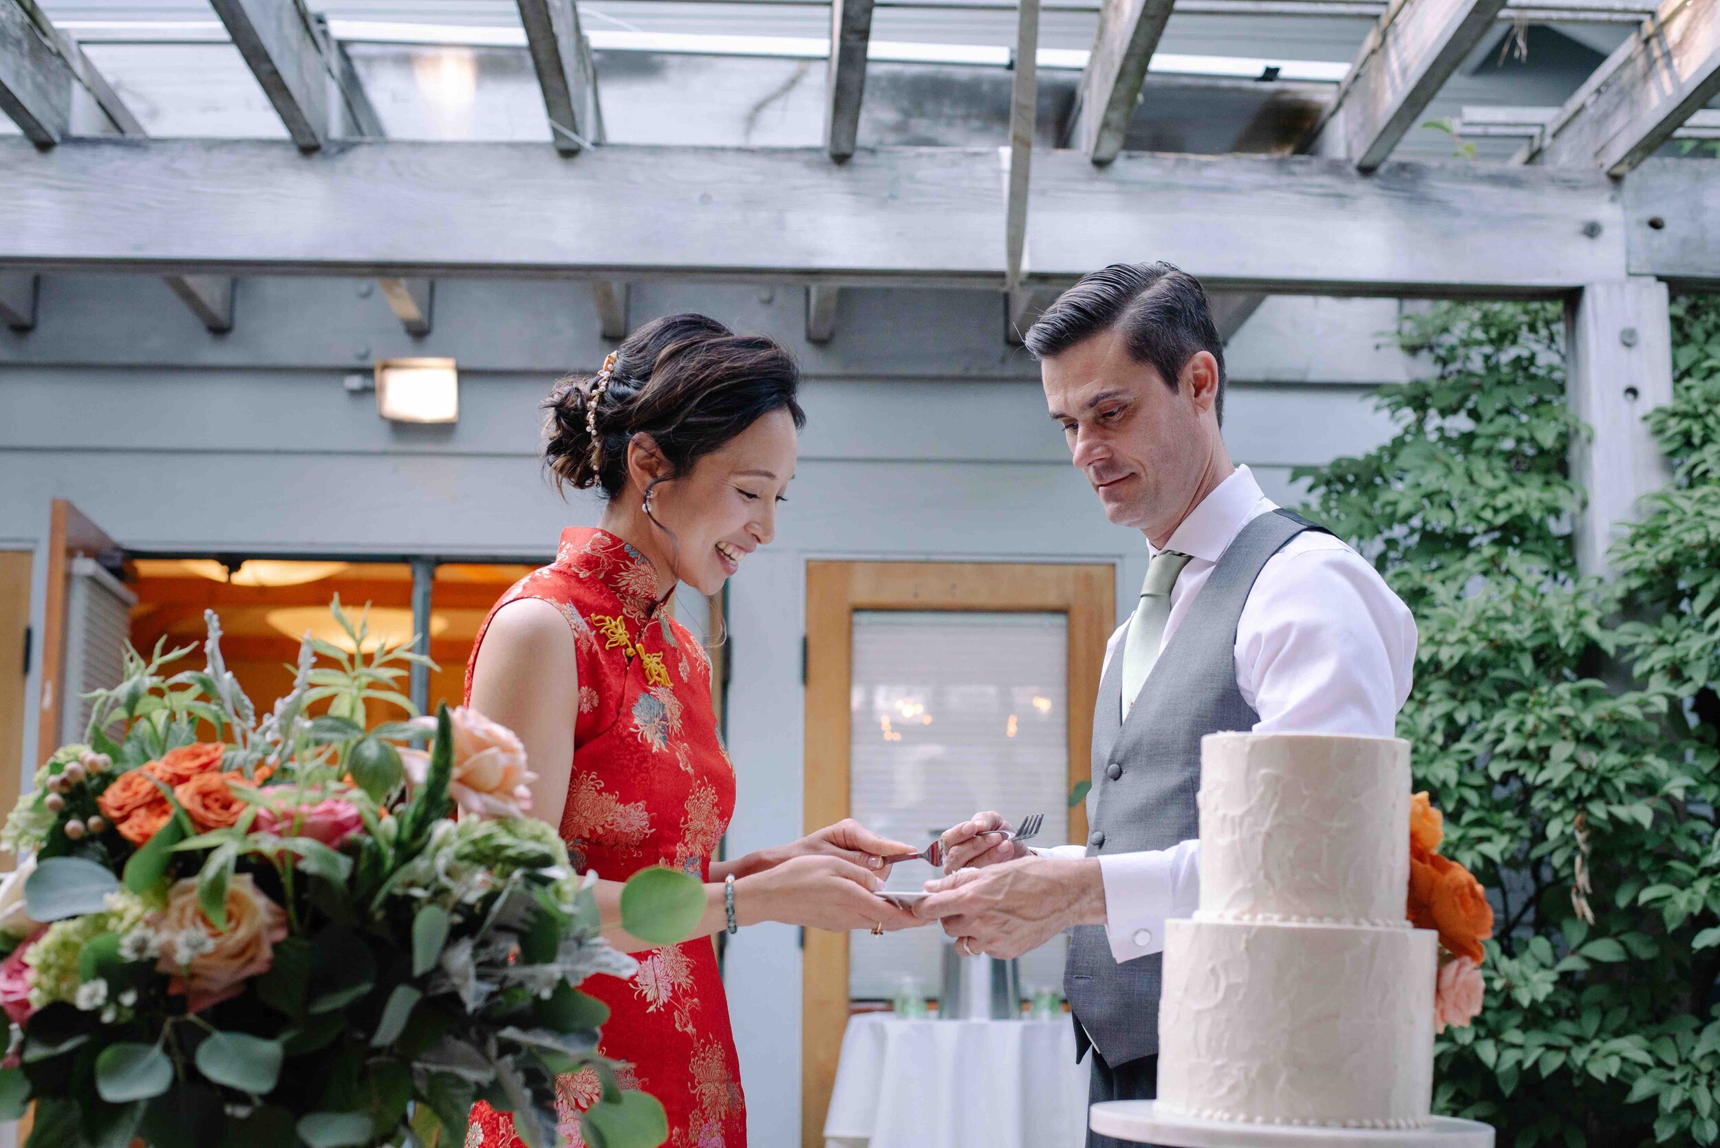
[[[848,1021],[824,1121],[832,1148],[1080,1148],[1087,1066],[1053,1021]]]

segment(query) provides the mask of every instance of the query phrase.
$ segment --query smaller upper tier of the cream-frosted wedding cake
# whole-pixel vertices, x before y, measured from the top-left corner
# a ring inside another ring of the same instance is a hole
[[[1409,789],[1398,737],[1206,736],[1197,918],[1407,928]]]

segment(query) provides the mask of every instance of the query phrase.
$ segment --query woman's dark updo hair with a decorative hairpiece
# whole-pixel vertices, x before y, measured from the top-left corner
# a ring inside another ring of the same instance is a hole
[[[628,483],[628,445],[650,435],[679,478],[772,411],[795,428],[800,369],[765,335],[736,335],[703,314],[666,314],[628,335],[597,375],[569,375],[544,402],[544,462],[562,490],[614,498]],[[593,402],[595,395],[595,402]]]

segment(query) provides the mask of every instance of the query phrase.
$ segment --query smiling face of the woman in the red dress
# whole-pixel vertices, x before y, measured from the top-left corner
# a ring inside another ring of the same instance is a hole
[[[771,411],[695,461],[685,474],[657,481],[650,509],[667,531],[667,536],[659,531],[659,540],[673,576],[702,595],[714,595],[746,555],[771,545],[798,454],[793,416]],[[642,457],[638,466],[648,483],[654,461]]]

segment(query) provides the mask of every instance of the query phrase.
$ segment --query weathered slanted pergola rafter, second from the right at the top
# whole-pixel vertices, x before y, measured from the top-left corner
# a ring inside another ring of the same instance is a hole
[[[1371,172],[1491,31],[1505,0],[1391,0],[1362,43],[1305,151]]]

